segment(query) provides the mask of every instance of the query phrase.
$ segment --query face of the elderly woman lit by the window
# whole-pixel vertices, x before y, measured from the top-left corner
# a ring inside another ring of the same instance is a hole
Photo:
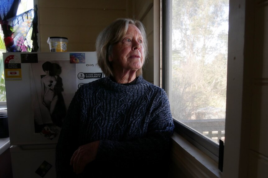
[[[135,25],[129,24],[127,33],[122,40],[113,46],[112,56],[109,58],[113,70],[135,71],[140,69],[144,61],[142,41],[140,30]]]

